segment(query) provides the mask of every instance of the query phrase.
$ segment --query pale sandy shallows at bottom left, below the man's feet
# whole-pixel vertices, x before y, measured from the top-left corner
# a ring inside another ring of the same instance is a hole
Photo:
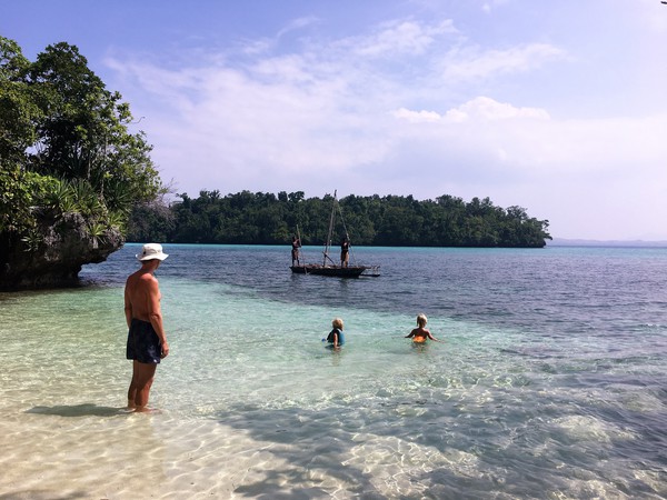
[[[175,426],[158,413],[100,417],[120,410],[74,410],[97,414],[2,421],[0,498],[230,498],[261,467],[255,450],[241,451],[242,434],[215,422]]]

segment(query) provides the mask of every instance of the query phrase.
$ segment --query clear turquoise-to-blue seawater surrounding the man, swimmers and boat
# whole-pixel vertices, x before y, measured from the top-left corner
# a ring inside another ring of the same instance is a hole
[[[0,294],[7,440],[49,429],[67,446],[99,427],[87,454],[149,421],[159,498],[667,497],[665,249],[358,248],[381,277],[345,280],[292,276],[289,248],[166,246],[161,412],[128,417],[138,248],[87,267],[82,288]],[[402,338],[419,312],[445,343]],[[335,317],[339,352],[321,342]],[[0,493],[26,491],[13,462],[36,457],[8,446]],[[73,476],[77,491],[130,497]]]

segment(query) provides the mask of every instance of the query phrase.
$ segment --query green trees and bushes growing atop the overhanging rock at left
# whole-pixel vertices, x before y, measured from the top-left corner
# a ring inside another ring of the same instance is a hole
[[[30,62],[0,37],[0,249],[34,248],[37,218],[68,212],[100,238],[123,229],[135,204],[166,192],[131,120],[77,47],[56,43]]]

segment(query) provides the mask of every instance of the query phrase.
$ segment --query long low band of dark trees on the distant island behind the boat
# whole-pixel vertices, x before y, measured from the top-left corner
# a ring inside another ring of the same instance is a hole
[[[288,244],[299,228],[302,244],[321,244],[328,233],[332,197],[306,198],[303,191],[278,196],[241,191],[222,197],[201,191],[178,194],[167,207],[136,207],[128,241],[217,244]],[[489,198],[441,196],[418,201],[412,196],[350,194],[339,200],[352,244],[379,247],[542,248],[551,239],[548,220],[521,207],[496,207]],[[335,241],[334,243],[337,243]]]

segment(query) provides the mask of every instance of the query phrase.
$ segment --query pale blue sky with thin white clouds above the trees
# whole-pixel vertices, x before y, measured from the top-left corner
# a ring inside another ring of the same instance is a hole
[[[667,240],[659,0],[0,0],[0,34],[77,46],[175,193],[488,197]]]

